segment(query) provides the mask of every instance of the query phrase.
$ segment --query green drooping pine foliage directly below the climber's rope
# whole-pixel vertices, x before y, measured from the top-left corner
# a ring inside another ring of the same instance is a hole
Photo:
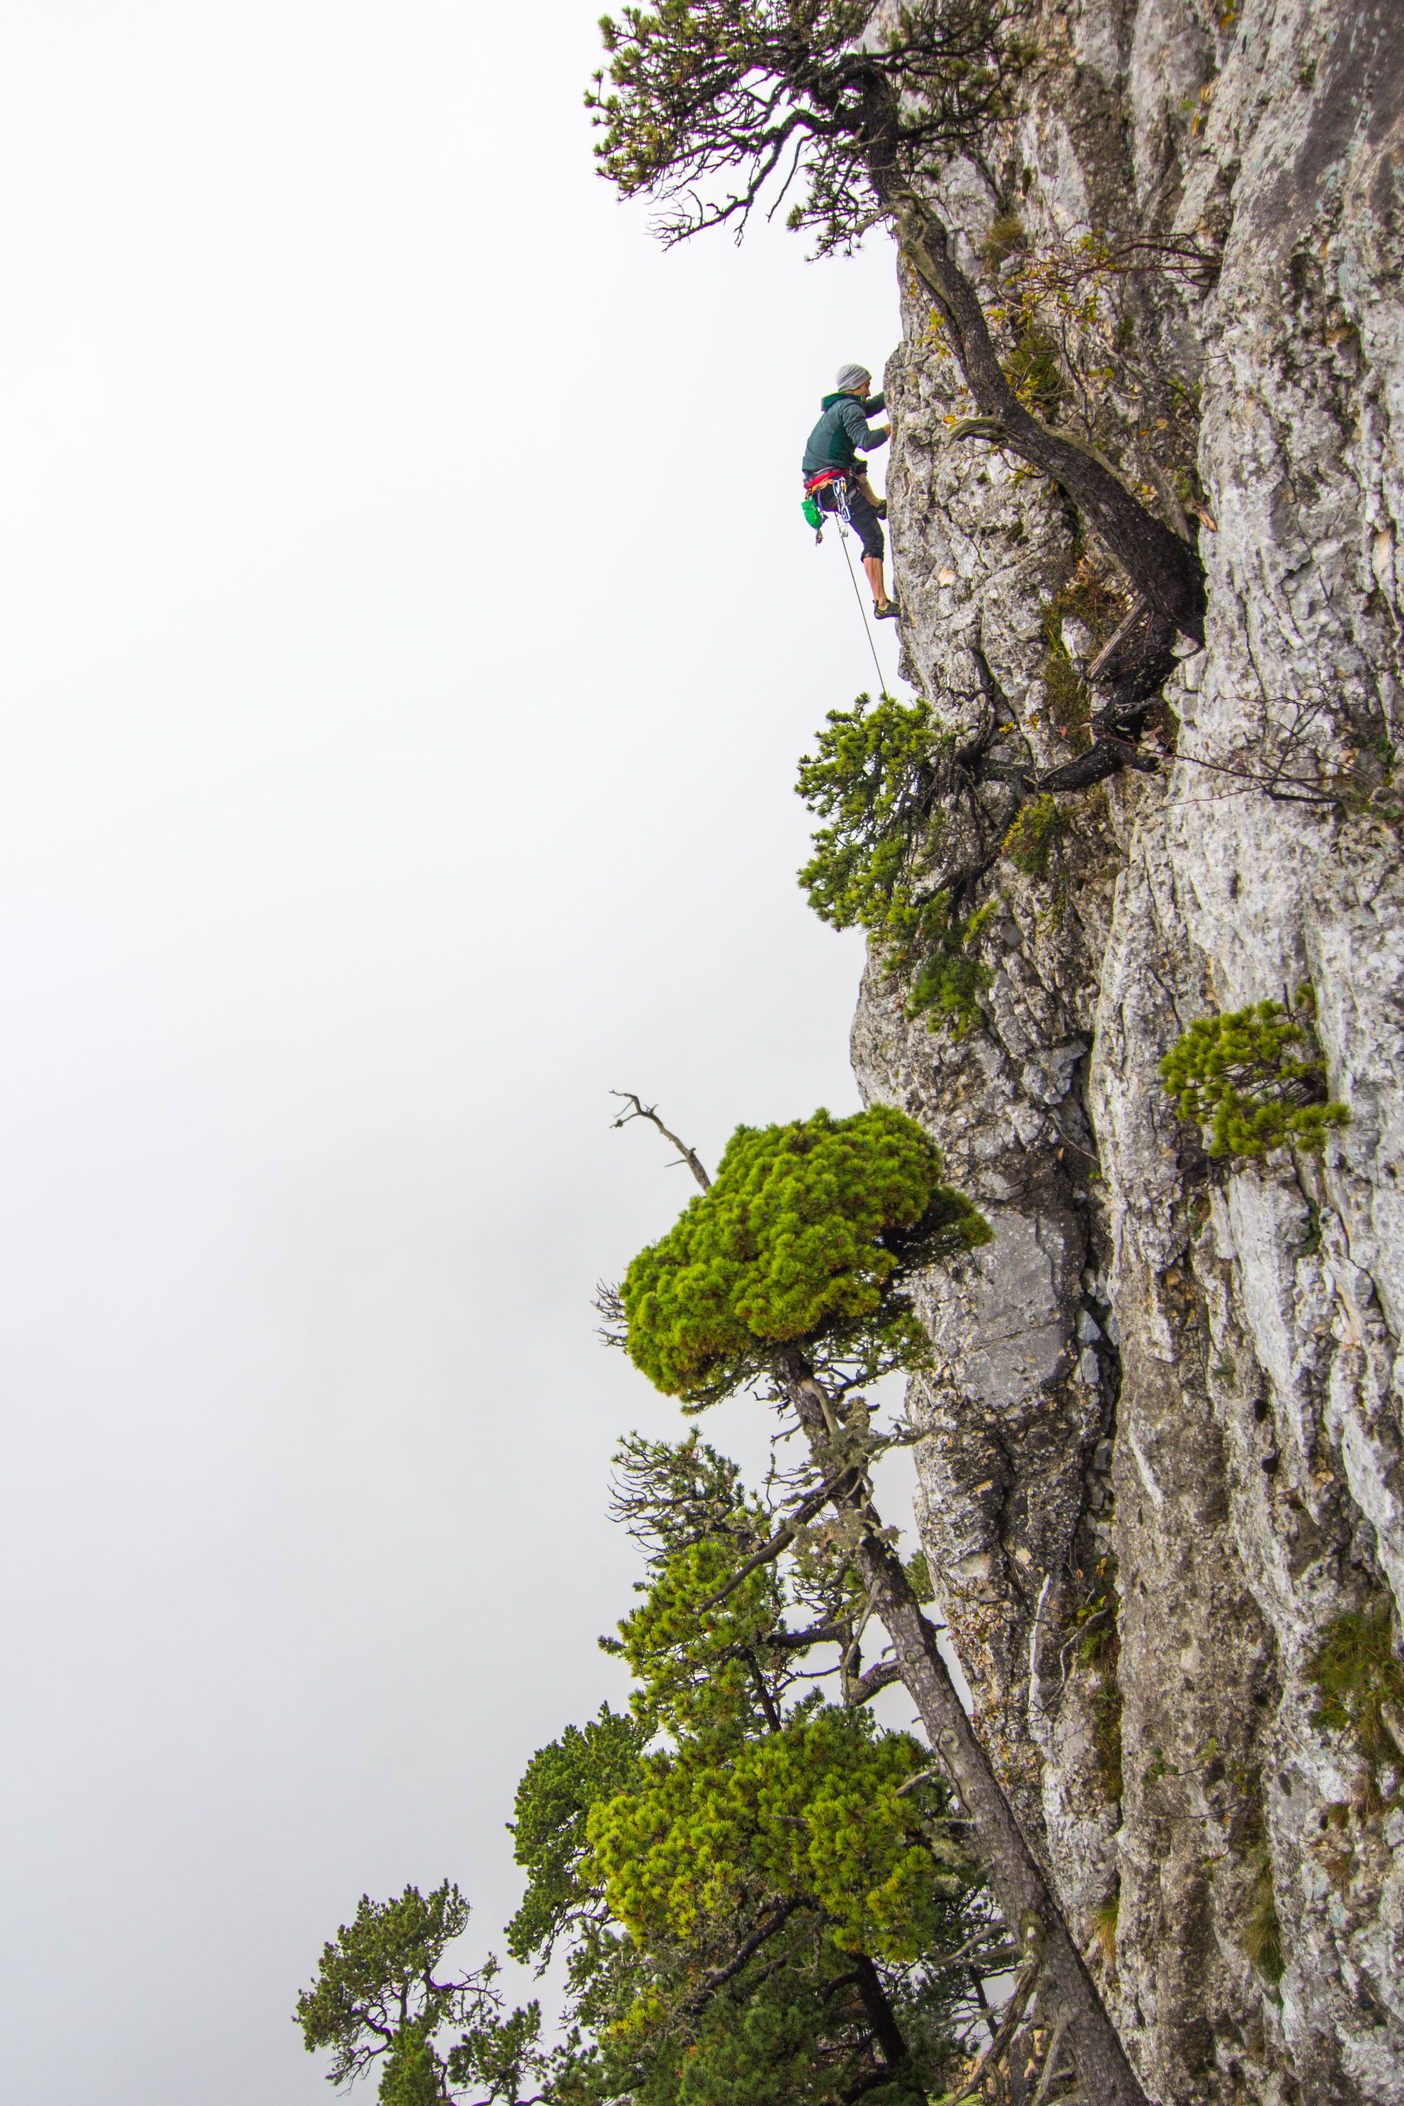
[[[815,914],[834,929],[865,929],[884,971],[907,981],[907,1015],[962,1034],[979,1024],[994,977],[981,956],[994,903],[966,914],[949,889],[932,887],[945,828],[937,760],[951,743],[924,701],[859,695],[853,710],[829,710],[796,790],[829,821],[800,872]]]

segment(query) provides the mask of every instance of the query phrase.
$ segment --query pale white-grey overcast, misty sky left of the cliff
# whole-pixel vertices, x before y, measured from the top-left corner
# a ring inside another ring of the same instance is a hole
[[[362,1891],[499,1938],[619,1687],[610,1445],[680,1424],[594,1337],[688,1196],[608,1091],[714,1158],[857,1106],[791,781],[871,661],[796,484],[892,257],[663,255],[594,13],[4,11],[17,2106],[324,2100]]]

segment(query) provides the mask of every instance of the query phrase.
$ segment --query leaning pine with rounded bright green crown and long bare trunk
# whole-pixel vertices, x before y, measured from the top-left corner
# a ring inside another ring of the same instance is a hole
[[[631,1104],[627,1116],[661,1125],[638,1097]],[[882,1525],[869,1483],[880,1443],[867,1411],[846,1403],[874,1373],[922,1363],[926,1344],[911,1316],[911,1274],[977,1249],[989,1230],[943,1181],[930,1137],[892,1110],[846,1120],[821,1112],[762,1131],[743,1127],[716,1184],[690,1150],[686,1156],[701,1198],[634,1259],[617,1302],[606,1304],[621,1323],[621,1344],[684,1409],[758,1386],[789,1407],[810,1451],[808,1502],[834,1510],[838,1556],[853,1571],[865,1611],[888,1634],[892,1666],[972,1822],[994,1898],[1021,1948],[998,2045],[1008,2045],[1038,1990],[1065,2028],[1080,2095],[1095,2106],[1145,2106]],[[783,1542],[777,1535],[751,1569],[779,1554]],[[720,1598],[711,1596],[709,1607]]]

